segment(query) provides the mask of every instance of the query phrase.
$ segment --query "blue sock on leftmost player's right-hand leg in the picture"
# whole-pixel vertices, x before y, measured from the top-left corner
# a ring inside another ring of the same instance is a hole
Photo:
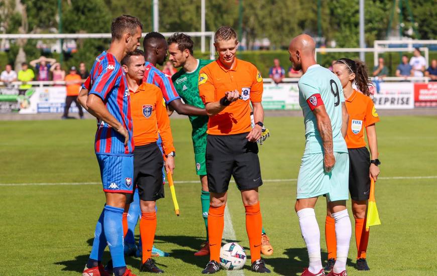
[[[123,240],[123,208],[104,207],[103,231],[110,248],[114,269],[126,267]],[[117,274],[116,274],[117,275]]]

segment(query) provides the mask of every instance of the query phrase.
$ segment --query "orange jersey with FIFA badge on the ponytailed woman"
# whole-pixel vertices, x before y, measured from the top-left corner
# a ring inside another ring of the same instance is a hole
[[[364,128],[379,122],[379,116],[372,99],[354,90],[352,95],[346,99],[346,109],[349,113],[348,131],[345,137],[348,149],[366,147]]]

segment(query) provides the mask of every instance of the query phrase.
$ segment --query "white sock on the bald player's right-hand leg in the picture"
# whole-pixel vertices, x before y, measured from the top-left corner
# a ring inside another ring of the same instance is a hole
[[[349,243],[352,236],[352,225],[349,219],[348,210],[332,214],[336,221],[337,259],[334,264],[334,273],[341,273],[346,270]]]

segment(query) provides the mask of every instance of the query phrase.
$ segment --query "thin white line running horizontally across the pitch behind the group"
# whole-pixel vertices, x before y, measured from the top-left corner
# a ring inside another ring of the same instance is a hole
[[[390,179],[437,179],[437,176],[392,176],[392,177],[378,177],[381,180]],[[293,182],[297,181],[297,178],[290,179],[263,179],[263,182]],[[234,182],[234,180],[231,180]],[[174,181],[175,184],[185,183],[199,183],[199,180],[187,180],[187,181]],[[0,186],[58,186],[58,185],[97,185],[101,182],[72,182],[72,183],[0,183]]]

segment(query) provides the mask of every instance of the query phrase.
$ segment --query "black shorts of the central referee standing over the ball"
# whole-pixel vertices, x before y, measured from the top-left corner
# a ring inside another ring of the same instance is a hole
[[[238,189],[251,190],[263,185],[257,143],[246,139],[248,132],[209,135],[206,139],[206,175],[213,193],[228,191],[231,176]]]

